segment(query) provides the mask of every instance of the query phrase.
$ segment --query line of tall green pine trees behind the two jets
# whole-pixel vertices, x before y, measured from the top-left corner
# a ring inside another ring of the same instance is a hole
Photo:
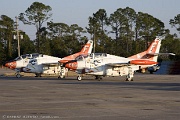
[[[118,8],[107,15],[105,9],[99,9],[88,18],[88,26],[67,25],[49,21],[53,15],[52,8],[40,2],[34,2],[18,19],[24,24],[36,27],[36,39],[30,40],[25,31],[20,41],[21,54],[43,53],[64,57],[78,52],[89,34],[95,41],[94,52],[128,57],[147,49],[156,36],[163,36],[161,52],[173,52],[175,57],[163,59],[180,59],[180,38],[170,34],[164,23],[148,13],[136,12],[133,8]],[[43,26],[46,24],[46,27]],[[169,24],[180,32],[180,14],[170,18]],[[7,15],[0,16],[0,64],[17,57],[17,40],[15,21]]]

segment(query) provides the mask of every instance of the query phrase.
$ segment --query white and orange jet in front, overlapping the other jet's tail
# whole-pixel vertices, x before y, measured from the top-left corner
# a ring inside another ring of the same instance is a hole
[[[149,67],[157,65],[159,54],[174,55],[173,53],[159,53],[161,39],[156,38],[149,48],[141,53],[128,58],[110,55],[106,53],[92,53],[88,56],[78,56],[76,61],[65,64],[66,68],[76,71],[81,80],[81,74],[93,75],[96,79],[101,76],[127,76],[127,81],[132,81],[134,72],[141,73]]]

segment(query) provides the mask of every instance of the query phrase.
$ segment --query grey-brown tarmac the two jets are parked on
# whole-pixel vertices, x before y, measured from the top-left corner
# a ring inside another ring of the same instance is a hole
[[[0,69],[2,120],[179,120],[180,75],[57,79]]]

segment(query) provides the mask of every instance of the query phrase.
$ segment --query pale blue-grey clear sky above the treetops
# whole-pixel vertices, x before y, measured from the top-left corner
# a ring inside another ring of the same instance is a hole
[[[15,16],[24,13],[33,2],[41,2],[52,8],[53,15],[49,21],[78,24],[82,28],[88,26],[88,18],[99,9],[105,9],[110,16],[118,8],[130,7],[161,20],[173,34],[176,30],[169,25],[169,20],[180,14],[180,0],[0,0],[0,15],[15,20]],[[20,21],[19,29],[35,39],[35,26],[24,25]]]

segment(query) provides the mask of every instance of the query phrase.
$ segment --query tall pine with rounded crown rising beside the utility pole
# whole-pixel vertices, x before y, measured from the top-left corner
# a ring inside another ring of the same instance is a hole
[[[43,29],[42,25],[45,21],[47,21],[52,16],[52,8],[50,6],[46,6],[43,3],[34,2],[30,7],[27,8],[25,13],[19,14],[19,19],[24,23],[28,25],[35,25],[36,26],[36,48],[37,52],[43,52],[42,48],[49,47],[47,43],[42,44],[47,41],[43,41],[42,35],[45,30]],[[46,51],[45,53],[48,54]]]

